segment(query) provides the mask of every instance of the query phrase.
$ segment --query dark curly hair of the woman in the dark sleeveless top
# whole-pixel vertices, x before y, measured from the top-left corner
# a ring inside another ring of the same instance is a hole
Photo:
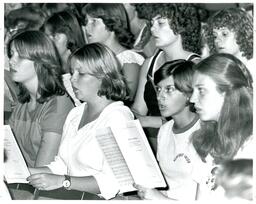
[[[146,6],[144,18],[149,21],[157,15],[169,19],[170,28],[182,38],[185,50],[200,54],[200,16],[198,9],[189,3],[153,3]]]

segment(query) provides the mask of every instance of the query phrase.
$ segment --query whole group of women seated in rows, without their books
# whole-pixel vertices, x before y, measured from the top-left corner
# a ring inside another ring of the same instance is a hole
[[[5,6],[5,124],[31,173],[7,184],[12,199],[253,199],[245,9],[202,22],[190,3]],[[120,194],[97,144],[97,130],[134,119],[165,189]]]

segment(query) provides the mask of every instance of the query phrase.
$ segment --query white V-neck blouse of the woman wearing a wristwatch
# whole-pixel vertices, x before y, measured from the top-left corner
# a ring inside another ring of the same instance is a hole
[[[95,133],[97,129],[119,126],[133,120],[134,117],[123,102],[113,102],[102,111],[96,120],[79,129],[84,108],[86,108],[86,103],[70,111],[64,125],[58,155],[48,167],[54,174],[94,176],[100,188],[100,196],[110,199],[115,197],[119,187],[98,146]]]

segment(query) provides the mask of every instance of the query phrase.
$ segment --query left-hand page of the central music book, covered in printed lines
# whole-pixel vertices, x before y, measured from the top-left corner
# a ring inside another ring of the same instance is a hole
[[[120,193],[136,190],[134,180],[110,128],[97,130],[96,139],[119,184]]]

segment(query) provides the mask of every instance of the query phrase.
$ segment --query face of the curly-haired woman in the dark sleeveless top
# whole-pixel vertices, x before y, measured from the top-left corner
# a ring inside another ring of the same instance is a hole
[[[155,16],[151,20],[151,33],[155,39],[156,46],[159,48],[171,45],[178,38],[178,35],[175,35],[170,28],[168,21],[168,18],[161,17],[160,15]]]

